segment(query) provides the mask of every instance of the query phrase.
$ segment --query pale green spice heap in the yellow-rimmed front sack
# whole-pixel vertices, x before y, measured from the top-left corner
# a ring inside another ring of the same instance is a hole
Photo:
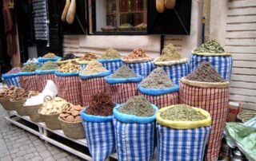
[[[178,104],[174,108],[168,108],[161,112],[160,116],[164,120],[172,121],[198,121],[206,119],[206,116],[203,116],[200,112],[186,104]]]

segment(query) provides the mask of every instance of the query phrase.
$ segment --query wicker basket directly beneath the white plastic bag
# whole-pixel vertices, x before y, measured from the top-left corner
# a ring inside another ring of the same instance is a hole
[[[29,114],[30,120],[36,123],[40,123],[43,121],[40,114],[38,113],[38,109],[42,107],[42,104],[32,105],[32,106],[25,106],[23,104],[23,106],[24,108],[26,108],[26,112]]]

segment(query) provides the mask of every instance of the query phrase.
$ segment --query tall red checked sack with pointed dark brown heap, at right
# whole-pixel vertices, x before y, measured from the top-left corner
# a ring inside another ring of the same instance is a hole
[[[206,160],[217,160],[229,107],[229,82],[224,81],[209,62],[202,62],[193,73],[182,77],[179,100],[181,104],[210,112],[213,122]]]

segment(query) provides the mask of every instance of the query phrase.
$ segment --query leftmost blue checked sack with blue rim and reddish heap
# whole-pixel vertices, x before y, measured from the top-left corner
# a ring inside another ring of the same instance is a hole
[[[22,70],[20,67],[14,67],[8,73],[2,75],[2,78],[6,81],[8,87],[14,85],[20,87],[18,73]]]

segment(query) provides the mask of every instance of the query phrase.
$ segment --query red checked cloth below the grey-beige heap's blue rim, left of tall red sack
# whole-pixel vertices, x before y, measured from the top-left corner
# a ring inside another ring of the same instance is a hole
[[[155,104],[158,108],[178,104],[178,92],[172,92],[159,96],[150,96],[138,91],[138,95],[144,96],[146,100],[150,101],[151,104]]]

